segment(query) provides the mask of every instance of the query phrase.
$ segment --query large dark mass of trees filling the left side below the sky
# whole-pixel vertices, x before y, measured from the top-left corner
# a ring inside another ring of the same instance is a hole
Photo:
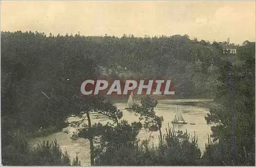
[[[4,125],[28,132],[65,127],[80,111],[79,84],[96,75],[94,62],[77,50],[80,38],[15,32],[2,33],[1,40]]]

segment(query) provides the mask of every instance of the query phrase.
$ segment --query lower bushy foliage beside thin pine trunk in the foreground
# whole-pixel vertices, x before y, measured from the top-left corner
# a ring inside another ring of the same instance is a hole
[[[98,123],[91,127],[84,124],[74,132],[72,139],[86,138],[90,140],[91,164],[94,165],[95,159],[97,161],[98,155],[103,150],[135,141],[141,128],[142,125],[140,123],[134,122],[129,125],[127,121],[121,121],[116,126],[109,122],[106,125]]]

